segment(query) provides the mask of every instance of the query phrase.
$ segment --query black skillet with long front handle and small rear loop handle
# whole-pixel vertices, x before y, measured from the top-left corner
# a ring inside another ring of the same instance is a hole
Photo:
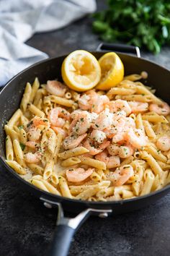
[[[158,66],[146,59],[140,59],[140,51],[134,46],[120,46],[101,44],[97,51],[92,52],[94,56],[99,59],[104,53],[102,51],[123,51],[127,54],[120,54],[120,58],[125,66],[125,74],[140,74],[142,71],[148,72],[147,84],[156,88],[156,95],[164,99],[164,101],[170,103],[170,72],[164,67]],[[137,54],[131,56],[128,54]],[[14,111],[19,108],[19,102],[24,92],[26,82],[33,82],[35,77],[38,77],[41,83],[45,83],[47,80],[53,80],[58,78],[61,80],[61,64],[66,56],[61,56],[53,59],[46,59],[39,63],[24,69],[10,80],[5,88],[0,93],[0,159],[6,169],[17,179],[24,189],[30,190],[32,194],[38,197],[45,207],[53,208],[58,207],[58,221],[57,229],[55,230],[53,246],[48,255],[50,256],[66,256],[71,244],[73,234],[81,223],[83,223],[89,215],[97,215],[101,218],[106,218],[109,215],[115,215],[119,213],[127,213],[132,210],[143,208],[146,205],[150,205],[156,202],[159,198],[163,197],[169,192],[170,186],[164,187],[161,190],[152,192],[149,195],[143,197],[136,197],[130,200],[116,201],[116,202],[88,202],[83,200],[71,200],[66,197],[60,197],[57,195],[43,192],[42,190],[34,187],[32,184],[25,182],[20,178],[15,171],[12,170],[5,163],[5,133],[4,124],[12,116]],[[79,213],[76,218],[65,218],[63,210],[67,210],[72,213]]]

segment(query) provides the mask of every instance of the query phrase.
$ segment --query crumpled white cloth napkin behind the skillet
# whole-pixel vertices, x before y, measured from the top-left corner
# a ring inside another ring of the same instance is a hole
[[[48,55],[24,42],[96,10],[95,0],[0,0],[0,86]]]

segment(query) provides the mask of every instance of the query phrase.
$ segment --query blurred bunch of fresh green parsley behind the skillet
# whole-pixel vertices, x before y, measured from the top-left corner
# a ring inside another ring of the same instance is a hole
[[[169,0],[109,0],[94,18],[94,32],[107,42],[144,46],[155,54],[170,44]]]

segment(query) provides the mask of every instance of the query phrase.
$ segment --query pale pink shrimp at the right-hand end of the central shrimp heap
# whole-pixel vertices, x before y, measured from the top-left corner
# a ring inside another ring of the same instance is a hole
[[[146,146],[148,137],[143,134],[141,129],[130,128],[128,132],[125,133],[125,140],[133,145],[134,148],[140,149],[141,147]]]

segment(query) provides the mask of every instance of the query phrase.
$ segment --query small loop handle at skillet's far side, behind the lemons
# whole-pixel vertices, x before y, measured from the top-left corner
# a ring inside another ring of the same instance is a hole
[[[100,43],[97,51],[117,51],[126,54],[135,54],[140,58],[140,49],[138,46],[128,46],[121,43]]]

